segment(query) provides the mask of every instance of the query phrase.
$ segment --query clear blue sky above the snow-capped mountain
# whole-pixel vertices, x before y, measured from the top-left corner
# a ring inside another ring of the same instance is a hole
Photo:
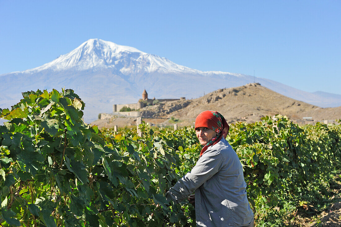
[[[90,38],[203,71],[341,94],[341,1],[0,0],[0,74]]]

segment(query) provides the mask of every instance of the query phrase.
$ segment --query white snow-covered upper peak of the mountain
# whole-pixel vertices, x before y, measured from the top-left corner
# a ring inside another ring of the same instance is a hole
[[[147,54],[130,46],[122,46],[101,39],[89,39],[73,51],[60,55],[57,59],[40,67],[24,72],[42,70],[54,72],[62,70],[89,70],[93,68],[113,69],[123,74],[151,72],[191,72],[198,70],[180,66],[153,54]]]

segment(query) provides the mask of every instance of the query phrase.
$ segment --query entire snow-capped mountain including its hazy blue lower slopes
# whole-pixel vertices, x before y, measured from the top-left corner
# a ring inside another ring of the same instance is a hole
[[[191,69],[134,47],[89,39],[73,51],[40,67],[0,75],[0,108],[17,103],[27,90],[71,88],[85,101],[84,118],[95,120],[112,112],[112,104],[134,103],[147,90],[155,98],[197,98],[204,93],[241,86],[253,76]],[[256,78],[285,96],[320,107],[341,105],[341,95],[309,93],[276,81]]]

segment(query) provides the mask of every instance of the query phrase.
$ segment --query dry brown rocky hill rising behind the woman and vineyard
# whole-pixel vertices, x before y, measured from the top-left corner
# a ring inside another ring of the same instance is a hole
[[[255,122],[266,115],[282,114],[291,117],[294,122],[313,123],[321,120],[341,119],[341,107],[321,108],[302,101],[283,96],[275,91],[250,83],[240,87],[224,88],[213,91],[205,96],[191,100],[164,102],[141,109],[145,121],[154,124],[167,123],[167,119],[178,119],[178,125],[192,125],[195,117],[204,110],[220,112],[228,123],[236,121]],[[304,122],[303,117],[312,117],[313,121]],[[132,121],[133,119],[131,119]],[[119,125],[120,119],[111,119],[112,125]],[[124,119],[127,124],[129,119]],[[109,122],[97,120],[93,124],[100,127]],[[116,123],[115,123],[116,122]],[[122,122],[123,123],[123,122]],[[173,123],[168,121],[168,123]],[[133,125],[134,123],[128,123]]]

